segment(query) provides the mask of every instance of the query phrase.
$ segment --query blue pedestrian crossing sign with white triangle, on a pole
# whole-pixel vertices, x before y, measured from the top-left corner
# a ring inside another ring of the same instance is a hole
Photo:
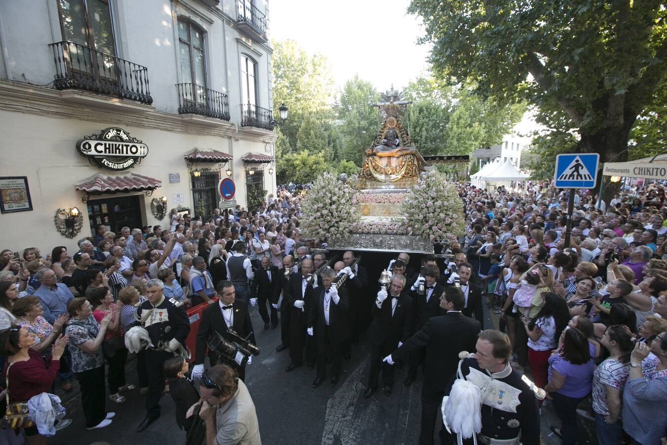
[[[598,179],[598,153],[567,153],[556,156],[554,187],[594,189]]]

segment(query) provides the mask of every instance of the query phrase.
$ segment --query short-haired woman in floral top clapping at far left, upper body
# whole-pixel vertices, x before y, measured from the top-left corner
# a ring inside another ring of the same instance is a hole
[[[62,314],[55,319],[53,326],[42,316],[44,313],[39,298],[35,296],[27,296],[16,300],[11,311],[18,317],[16,324],[18,326],[25,326],[25,328],[35,336],[37,343],[33,344],[32,348],[35,352],[47,355],[49,348],[56,338],[63,330],[63,326],[69,320],[69,315]]]

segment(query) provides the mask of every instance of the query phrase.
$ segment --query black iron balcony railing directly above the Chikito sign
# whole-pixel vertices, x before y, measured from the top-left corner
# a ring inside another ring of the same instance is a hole
[[[55,89],[84,89],[150,105],[148,69],[73,42],[49,45],[55,62]]]

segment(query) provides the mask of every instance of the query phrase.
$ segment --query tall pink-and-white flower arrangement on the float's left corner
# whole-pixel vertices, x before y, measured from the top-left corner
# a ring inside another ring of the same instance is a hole
[[[356,177],[347,182],[336,175],[324,172],[315,179],[312,187],[301,200],[301,231],[308,238],[324,240],[331,236],[348,236],[360,217],[354,207]]]

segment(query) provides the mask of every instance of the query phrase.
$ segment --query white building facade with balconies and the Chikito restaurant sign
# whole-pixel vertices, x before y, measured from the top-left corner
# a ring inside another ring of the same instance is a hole
[[[252,0],[0,2],[1,248],[75,252],[98,224],[168,226],[165,208],[207,217],[228,175],[244,207],[275,193],[268,12]],[[83,228],[69,239],[54,215],[73,207]]]

